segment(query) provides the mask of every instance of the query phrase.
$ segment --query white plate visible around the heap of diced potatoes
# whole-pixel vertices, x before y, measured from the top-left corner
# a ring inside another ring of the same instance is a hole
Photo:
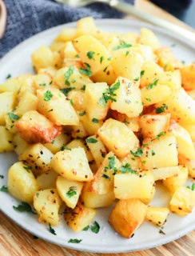
[[[178,59],[184,60],[185,62],[194,61],[193,46],[190,46],[189,42],[185,42],[182,38],[177,38],[175,35],[165,30],[149,26],[142,22],[128,20],[104,19],[98,20],[96,23],[101,30],[109,32],[118,31],[122,33],[127,33],[129,31],[138,32],[143,26],[149,27],[155,34],[157,34],[157,37],[161,41],[161,45],[174,46],[173,53]],[[32,73],[30,54],[32,54],[39,46],[50,45],[62,28],[72,26],[75,26],[75,23],[46,30],[25,42],[22,42],[15,47],[14,50],[11,50],[10,53],[6,54],[0,61],[0,83],[5,81],[7,74],[11,74],[12,77],[14,77],[19,74]],[[5,176],[3,179],[0,178],[0,187],[6,185],[7,170],[16,160],[17,158],[13,153],[0,154],[0,174]],[[168,206],[169,193],[165,191],[165,193],[161,194],[161,190],[161,186],[157,187],[157,194],[152,202],[153,206]],[[98,214],[95,218],[101,226],[98,234],[94,234],[90,230],[82,231],[78,234],[74,233],[62,220],[61,225],[54,228],[57,233],[57,235],[54,235],[50,234],[47,226],[38,223],[36,219],[37,217],[34,214],[18,213],[15,211],[13,206],[17,206],[18,203],[19,202],[9,194],[0,192],[0,209],[4,214],[14,220],[14,222],[18,223],[19,226],[22,226],[25,230],[37,235],[39,238],[75,250],[86,250],[98,253],[143,250],[173,241],[195,229],[195,211],[193,211],[193,214],[189,214],[189,216],[185,218],[169,214],[168,221],[164,228],[165,234],[160,234],[159,228],[145,222],[141,228],[137,230],[133,238],[121,238],[121,236],[114,232],[108,224],[107,220],[111,210],[110,207],[109,209],[98,210]],[[70,238],[82,239],[82,242],[78,244],[68,243]]]

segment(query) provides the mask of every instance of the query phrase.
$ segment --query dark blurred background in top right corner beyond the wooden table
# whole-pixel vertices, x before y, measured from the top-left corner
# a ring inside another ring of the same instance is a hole
[[[152,0],[151,2],[195,28],[195,0]]]

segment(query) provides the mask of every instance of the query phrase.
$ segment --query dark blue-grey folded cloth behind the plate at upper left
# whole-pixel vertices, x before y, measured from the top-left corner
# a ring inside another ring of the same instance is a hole
[[[74,0],[72,0],[74,1]],[[134,0],[125,0],[133,4]],[[103,3],[74,8],[54,0],[5,0],[7,8],[6,33],[0,40],[0,58],[26,38],[79,18],[121,18],[124,14]]]

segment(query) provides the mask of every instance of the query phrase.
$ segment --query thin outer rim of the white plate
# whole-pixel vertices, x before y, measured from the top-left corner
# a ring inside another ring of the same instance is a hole
[[[162,29],[160,27],[157,27],[157,26],[153,26],[153,25],[151,25],[149,23],[146,23],[146,22],[140,22],[140,21],[133,20],[133,19],[117,19],[117,18],[95,19],[95,23],[96,23],[97,26],[98,25],[102,26],[105,22],[110,23],[111,26],[113,26],[114,22],[117,22],[117,26],[122,26],[122,25],[126,26],[126,25],[129,24],[129,27],[130,26],[137,26],[137,28],[141,28],[142,26],[147,27],[147,28],[153,30],[154,32],[157,31],[160,34],[165,34],[165,36],[168,35],[170,38],[176,39],[177,41],[181,42],[182,44],[190,47],[191,50],[195,50],[195,46],[193,45],[192,42],[186,42],[185,38],[181,38],[177,34],[173,34],[170,31],[164,30],[164,29]],[[43,36],[44,36],[44,34],[52,33],[53,30],[55,31],[55,30],[60,30],[62,28],[66,28],[66,27],[75,27],[76,23],[77,22],[69,22],[69,23],[66,23],[66,24],[54,26],[54,27],[49,28],[47,30],[43,30],[43,31],[39,32],[38,34],[34,34],[32,37],[27,38],[23,42],[20,42],[17,46],[15,46],[12,50],[10,50],[7,54],[5,54],[0,59],[0,66],[4,65],[4,62],[6,62],[7,59],[12,57],[12,55],[18,50],[18,48],[20,49],[21,47],[28,45],[28,43],[30,41],[32,41],[34,38],[36,38],[38,35],[43,34]],[[120,24],[118,25],[118,23],[120,23]],[[109,25],[109,24],[107,24],[107,25]],[[13,218],[12,215],[9,214],[8,211],[3,210],[3,209],[1,209],[1,210],[2,210],[3,214],[6,214],[6,216],[8,218],[10,218],[10,220],[14,221],[18,226],[21,226],[24,230],[28,231],[30,234],[34,234],[34,235],[38,236],[38,238],[42,238],[43,240],[45,240],[47,242],[51,242],[51,243],[56,244],[58,246],[63,246],[63,247],[66,247],[66,248],[70,248],[72,250],[80,250],[80,251],[94,252],[94,253],[108,254],[108,253],[125,253],[125,252],[137,251],[137,250],[145,250],[145,249],[149,249],[149,248],[164,245],[168,242],[172,242],[174,240],[177,240],[178,238],[181,238],[185,234],[188,234],[190,231],[195,230],[195,223],[190,223],[189,226],[187,228],[185,228],[184,230],[182,229],[180,232],[177,232],[177,234],[169,234],[169,238],[162,238],[160,240],[160,242],[157,241],[157,242],[153,242],[152,244],[151,244],[151,242],[146,242],[146,243],[148,243],[148,245],[145,245],[145,246],[140,246],[140,244],[135,244],[135,245],[133,245],[133,249],[129,248],[129,250],[126,249],[126,246],[125,246],[124,250],[122,250],[122,248],[118,247],[118,246],[115,250],[113,248],[109,248],[108,250],[105,250],[105,248],[104,248],[104,250],[101,250],[101,248],[97,248],[97,247],[96,247],[95,250],[93,250],[92,247],[94,247],[94,246],[90,246],[90,248],[89,248],[89,245],[82,245],[82,243],[77,244],[77,246],[75,246],[74,244],[70,244],[66,241],[65,241],[65,244],[63,244],[62,242],[54,242],[54,241],[52,241],[52,238],[50,238],[50,236],[46,237],[45,234],[43,234],[43,235],[42,234],[41,235],[36,234],[34,231],[32,232],[28,226],[26,227],[21,222],[17,222],[17,216],[15,216]],[[132,245],[129,245],[129,247],[130,246],[132,247]],[[88,247],[88,248],[86,248],[86,247]],[[120,249],[118,250],[118,248],[120,248]]]

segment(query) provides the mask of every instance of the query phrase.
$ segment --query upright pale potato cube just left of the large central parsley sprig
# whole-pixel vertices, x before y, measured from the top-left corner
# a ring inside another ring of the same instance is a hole
[[[89,83],[86,85],[84,105],[86,106],[86,114],[93,120],[104,120],[108,110],[110,101],[101,102],[102,97],[109,91],[106,82]]]

